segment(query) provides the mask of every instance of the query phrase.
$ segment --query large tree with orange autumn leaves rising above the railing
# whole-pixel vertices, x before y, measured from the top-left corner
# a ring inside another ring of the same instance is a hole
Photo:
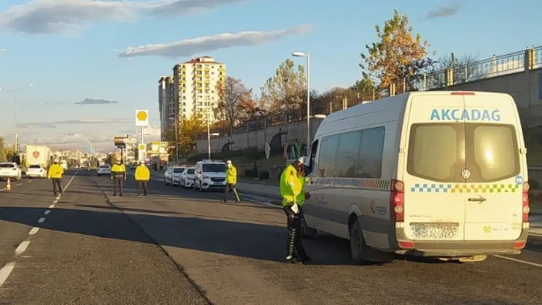
[[[361,54],[364,79],[380,81],[380,87],[402,81],[405,77],[417,77],[433,65],[427,56],[430,44],[414,34],[407,15],[393,10],[393,17],[384,27],[375,25],[378,42],[366,44],[367,54]]]

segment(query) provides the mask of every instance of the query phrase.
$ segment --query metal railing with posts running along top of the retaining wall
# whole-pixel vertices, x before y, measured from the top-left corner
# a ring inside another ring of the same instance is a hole
[[[348,107],[383,99],[391,95],[411,91],[443,90],[463,83],[475,82],[492,77],[508,75],[526,70],[542,68],[542,46],[516,51],[509,54],[494,55],[474,63],[454,66],[448,69],[428,71],[410,79],[399,80],[384,88],[376,88],[367,92],[343,89],[339,94],[326,97],[315,96],[311,103],[311,114],[330,114]],[[231,133],[245,133],[260,128],[285,125],[306,120],[306,104],[301,103],[295,111],[254,116],[252,119],[239,122]],[[230,132],[224,126],[215,126],[212,133],[228,135]],[[207,137],[207,133],[198,135],[198,139]]]

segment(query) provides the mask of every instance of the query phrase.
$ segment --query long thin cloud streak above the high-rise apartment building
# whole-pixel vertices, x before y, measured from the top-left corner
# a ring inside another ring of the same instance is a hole
[[[300,25],[291,29],[283,29],[269,32],[243,31],[240,33],[223,33],[214,36],[203,36],[186,40],[163,43],[147,44],[145,46],[130,47],[119,57],[133,56],[164,56],[182,57],[193,54],[207,53],[218,49],[227,49],[240,46],[257,46],[278,40],[283,36],[306,33],[311,30],[311,25]]]

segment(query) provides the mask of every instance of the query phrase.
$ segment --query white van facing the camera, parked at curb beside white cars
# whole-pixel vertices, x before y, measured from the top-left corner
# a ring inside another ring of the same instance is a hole
[[[198,161],[194,172],[194,190],[224,190],[226,188],[226,164],[221,160]]]

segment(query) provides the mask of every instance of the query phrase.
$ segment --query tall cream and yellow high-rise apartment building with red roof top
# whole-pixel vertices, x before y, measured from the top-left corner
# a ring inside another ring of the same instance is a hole
[[[162,76],[158,91],[160,127],[162,131],[175,128],[177,119],[198,115],[204,122],[216,121],[219,90],[226,80],[226,66],[214,57],[196,57],[177,63],[173,74]]]

